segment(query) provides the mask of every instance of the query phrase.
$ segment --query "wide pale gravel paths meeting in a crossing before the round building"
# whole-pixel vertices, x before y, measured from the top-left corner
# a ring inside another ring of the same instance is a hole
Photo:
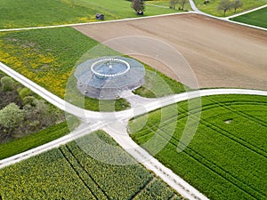
[[[12,78],[19,81],[20,84],[24,84],[33,92],[36,92],[38,95],[43,97],[45,100],[48,100],[56,107],[61,108],[62,110],[79,117],[82,121],[77,130],[70,132],[69,135],[63,136],[58,140],[53,140],[40,147],[30,149],[21,154],[1,160],[0,169],[5,166],[28,159],[31,156],[41,154],[52,148],[58,148],[60,145],[66,144],[71,140],[76,140],[77,138],[82,137],[85,134],[102,129],[108,132],[109,135],[114,140],[116,140],[117,143],[122,148],[124,148],[130,155],[134,156],[137,161],[142,163],[147,169],[150,169],[152,172],[155,172],[162,180],[165,180],[167,184],[176,189],[178,193],[182,194],[182,196],[186,198],[194,200],[206,200],[207,198],[206,196],[201,194],[196,188],[193,188],[185,180],[182,180],[182,178],[177,176],[170,169],[166,168],[166,166],[160,164],[158,160],[155,159],[153,156],[150,156],[147,151],[138,146],[126,132],[128,120],[133,118],[134,116],[140,116],[152,110],[166,107],[167,105],[171,105],[182,100],[190,100],[202,96],[218,94],[255,94],[267,96],[266,91],[247,89],[206,89],[200,91],[183,92],[180,94],[174,94],[154,100],[144,99],[142,101],[141,97],[137,98],[136,96],[134,96],[134,94],[132,96],[130,94],[127,94],[125,98],[129,99],[132,104],[135,105],[134,108],[113,113],[94,112],[90,110],[85,110],[83,108],[77,108],[76,106],[71,105],[69,102],[61,100],[53,93],[46,91],[43,87],[33,83],[27,77],[21,76],[19,73],[12,70],[11,68],[8,68],[1,62],[0,69],[3,70],[4,73],[6,73],[8,76],[12,76]]]

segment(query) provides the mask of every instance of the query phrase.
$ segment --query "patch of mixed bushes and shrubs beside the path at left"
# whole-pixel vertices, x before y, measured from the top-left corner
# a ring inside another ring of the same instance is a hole
[[[40,100],[33,92],[11,77],[1,78],[0,140],[2,142],[37,132],[63,119],[63,114]]]

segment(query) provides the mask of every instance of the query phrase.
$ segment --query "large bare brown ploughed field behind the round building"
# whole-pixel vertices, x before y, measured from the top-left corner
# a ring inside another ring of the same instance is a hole
[[[197,14],[182,14],[160,18],[110,22],[75,27],[93,39],[104,42],[121,36],[150,36],[171,44],[182,53],[197,76],[200,87],[241,87],[267,90],[267,32],[246,28]],[[109,46],[128,52],[142,52],[144,42],[118,40]],[[150,46],[150,51],[162,54],[164,47]],[[157,66],[168,76],[190,75],[179,65],[159,64],[143,56],[134,56],[150,66]],[[174,57],[165,58],[175,60]],[[175,72],[175,73],[174,73]],[[190,84],[186,83],[185,84]],[[190,85],[192,87],[195,84]]]

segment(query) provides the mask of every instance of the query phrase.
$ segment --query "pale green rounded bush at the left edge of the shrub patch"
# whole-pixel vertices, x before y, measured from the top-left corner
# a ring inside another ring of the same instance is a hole
[[[24,120],[24,112],[15,103],[10,103],[0,110],[0,126],[12,132]]]

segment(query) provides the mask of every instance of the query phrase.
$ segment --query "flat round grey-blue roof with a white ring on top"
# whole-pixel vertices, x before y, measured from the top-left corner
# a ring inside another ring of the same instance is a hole
[[[140,83],[145,76],[145,68],[137,60],[109,56],[86,60],[77,66],[74,75],[83,85],[120,89]]]

